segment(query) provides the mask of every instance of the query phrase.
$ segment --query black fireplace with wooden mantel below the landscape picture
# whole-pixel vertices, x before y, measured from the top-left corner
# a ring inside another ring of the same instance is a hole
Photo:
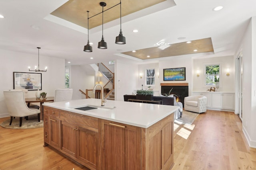
[[[184,98],[188,96],[188,83],[161,83],[161,93],[168,94],[171,89],[170,94],[177,95],[184,107]]]

